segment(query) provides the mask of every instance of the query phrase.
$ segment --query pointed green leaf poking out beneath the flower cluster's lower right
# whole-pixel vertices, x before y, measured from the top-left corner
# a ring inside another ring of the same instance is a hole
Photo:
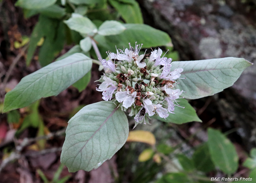
[[[177,99],[177,102],[181,107],[176,106],[174,109],[175,114],[169,113],[166,120],[156,115],[153,117],[163,122],[176,124],[188,123],[191,121],[202,122],[202,120],[196,115],[195,109],[188,103],[186,99]]]

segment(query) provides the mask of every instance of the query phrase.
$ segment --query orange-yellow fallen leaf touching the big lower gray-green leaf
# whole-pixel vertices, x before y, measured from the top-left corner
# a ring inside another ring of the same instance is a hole
[[[135,130],[129,132],[126,142],[143,142],[149,145],[155,145],[156,138],[150,131]]]

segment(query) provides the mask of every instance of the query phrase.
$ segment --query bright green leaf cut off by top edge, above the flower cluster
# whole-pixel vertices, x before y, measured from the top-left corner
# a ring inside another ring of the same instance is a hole
[[[129,4],[116,0],[109,0],[109,2],[121,14],[126,23],[143,24],[140,5],[135,0],[129,0]]]

